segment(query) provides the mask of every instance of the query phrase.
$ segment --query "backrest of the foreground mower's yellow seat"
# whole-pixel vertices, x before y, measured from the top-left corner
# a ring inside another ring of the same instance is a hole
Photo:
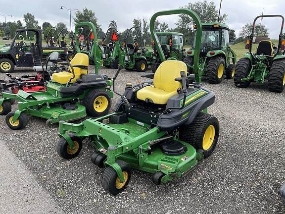
[[[167,92],[182,88],[182,84],[174,80],[176,77],[181,77],[180,71],[187,73],[187,65],[183,61],[166,60],[162,62],[153,77],[154,87]]]

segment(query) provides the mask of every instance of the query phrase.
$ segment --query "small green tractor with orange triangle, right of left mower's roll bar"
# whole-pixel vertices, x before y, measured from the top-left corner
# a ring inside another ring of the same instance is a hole
[[[112,38],[110,43],[106,44],[105,40],[108,35],[109,31],[113,31]],[[122,54],[122,48],[120,46],[118,37],[115,33],[115,28],[109,28],[107,32],[105,33],[104,38],[102,38],[102,48],[103,48],[103,53],[102,53],[102,60],[103,60],[103,65],[105,67],[111,67],[118,69],[119,66],[119,56]]]

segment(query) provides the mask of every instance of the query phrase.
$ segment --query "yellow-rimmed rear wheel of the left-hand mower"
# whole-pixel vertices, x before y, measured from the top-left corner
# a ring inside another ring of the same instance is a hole
[[[107,114],[111,108],[111,102],[109,94],[101,89],[91,90],[83,99],[87,115],[94,117]]]

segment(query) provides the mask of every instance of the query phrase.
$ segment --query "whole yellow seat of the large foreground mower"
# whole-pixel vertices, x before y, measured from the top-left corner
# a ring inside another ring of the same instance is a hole
[[[162,62],[153,77],[154,87],[142,88],[137,92],[137,98],[142,101],[149,100],[154,104],[167,104],[169,98],[177,95],[177,89],[182,88],[182,84],[175,81],[176,77],[181,77],[180,71],[187,73],[187,65],[183,61]]]

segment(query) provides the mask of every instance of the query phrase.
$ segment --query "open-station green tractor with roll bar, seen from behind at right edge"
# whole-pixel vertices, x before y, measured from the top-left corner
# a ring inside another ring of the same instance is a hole
[[[278,47],[271,41],[260,41],[256,54],[252,53],[255,22],[258,18],[282,18]],[[249,41],[249,53],[238,60],[234,83],[238,88],[247,88],[250,82],[264,83],[268,81],[268,90],[282,92],[285,86],[285,36],[283,35],[284,17],[282,15],[260,15],[253,21]]]

